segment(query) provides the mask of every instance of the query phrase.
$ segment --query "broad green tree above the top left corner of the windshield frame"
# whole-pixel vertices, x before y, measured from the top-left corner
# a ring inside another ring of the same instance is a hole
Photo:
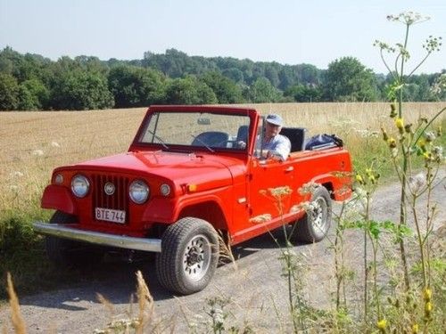
[[[144,107],[165,100],[165,78],[154,69],[119,65],[110,70],[108,82],[116,108]]]

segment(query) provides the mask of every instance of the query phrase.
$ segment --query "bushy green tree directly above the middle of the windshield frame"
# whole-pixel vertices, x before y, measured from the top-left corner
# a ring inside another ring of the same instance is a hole
[[[217,96],[210,86],[194,76],[169,81],[166,102],[171,104],[216,104]]]

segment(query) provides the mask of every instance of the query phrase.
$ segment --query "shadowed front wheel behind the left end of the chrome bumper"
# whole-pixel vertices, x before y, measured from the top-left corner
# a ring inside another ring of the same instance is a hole
[[[77,222],[76,216],[62,211],[56,211],[50,219],[50,224],[74,224]],[[45,246],[46,254],[54,265],[95,265],[103,259],[101,249],[84,242],[47,236]]]

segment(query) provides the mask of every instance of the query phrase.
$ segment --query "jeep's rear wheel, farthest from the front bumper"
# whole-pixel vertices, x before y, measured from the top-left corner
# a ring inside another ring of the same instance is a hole
[[[326,237],[330,229],[332,203],[330,194],[325,187],[319,186],[313,192],[311,205],[314,209],[295,223],[294,239],[297,241],[318,242]]]

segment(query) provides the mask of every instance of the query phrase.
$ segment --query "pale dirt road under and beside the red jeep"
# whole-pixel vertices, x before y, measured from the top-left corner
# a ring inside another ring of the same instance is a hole
[[[445,173],[442,171],[442,177]],[[439,212],[435,228],[446,224],[446,182],[444,178],[433,194]],[[389,184],[376,191],[373,200],[373,217],[376,220],[397,221],[399,203],[398,185]],[[417,208],[419,213],[423,208]],[[333,232],[332,227],[332,232]],[[282,232],[274,233],[281,240]],[[348,262],[353,269],[362,265],[362,234],[348,231],[345,235]],[[293,251],[301,258],[305,270],[301,273],[306,285],[302,293],[311,305],[327,307],[330,292],[335,290],[333,251],[330,238],[314,245],[297,245]],[[135,272],[142,270],[145,281],[153,294],[153,323],[162,332],[186,332],[195,325],[202,332],[203,322],[211,322],[207,314],[211,307],[206,300],[213,297],[228,299],[226,323],[244,328],[251,324],[255,332],[287,331],[289,323],[286,280],[281,276],[282,264],[278,260],[280,248],[270,235],[244,242],[233,249],[237,257],[235,270],[231,264],[219,266],[210,286],[192,296],[174,297],[158,284],[153,261],[127,264],[111,262],[85,273],[85,281],[72,289],[54,290],[21,298],[21,312],[29,333],[91,333],[103,329],[111,319],[127,316],[130,295],[136,290]],[[101,273],[98,275],[97,273]],[[360,274],[359,274],[360,275]],[[101,278],[98,278],[100,276]],[[105,277],[105,278],[104,278]],[[97,301],[96,293],[108,298],[113,305],[114,317]],[[358,293],[359,294],[359,293]],[[358,300],[360,296],[358,295]],[[137,305],[134,313],[137,314]],[[10,310],[0,308],[0,330],[10,329]],[[207,326],[206,328],[211,329]]]

